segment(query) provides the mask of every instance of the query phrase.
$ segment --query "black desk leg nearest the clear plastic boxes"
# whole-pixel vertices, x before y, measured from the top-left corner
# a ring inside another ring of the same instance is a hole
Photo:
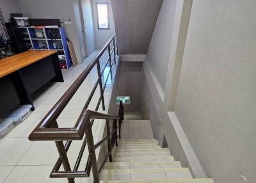
[[[21,101],[20,104],[31,104],[31,111],[34,111],[34,104],[29,93],[27,92],[20,70],[17,70],[17,72],[13,72],[11,78],[14,83],[15,89],[17,90],[17,93],[19,95]]]

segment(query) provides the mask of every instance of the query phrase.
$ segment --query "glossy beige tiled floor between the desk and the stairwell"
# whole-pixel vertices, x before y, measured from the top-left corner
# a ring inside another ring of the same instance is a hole
[[[46,115],[47,111],[51,109],[61,95],[74,82],[74,80],[81,74],[86,66],[96,56],[97,51],[93,52],[91,56],[86,58],[83,63],[72,67],[69,70],[63,70],[64,83],[53,83],[45,87],[40,92],[35,100],[35,111],[22,123],[17,125],[15,129],[8,134],[4,139],[0,140],[0,182],[4,183],[41,183],[41,182],[67,182],[67,179],[50,179],[49,174],[56,163],[58,152],[52,141],[29,141],[28,136],[36,125]],[[107,60],[107,54],[104,54],[100,59],[100,66],[103,67]],[[108,71],[106,68],[106,72]],[[115,67],[113,69],[115,72]],[[106,80],[106,74],[104,74]],[[110,78],[110,77],[109,77]],[[72,100],[68,103],[63,113],[58,118],[58,125],[60,127],[72,127],[76,122],[81,110],[90,94],[93,85],[97,81],[97,69],[93,68],[92,72],[86,78],[82,86],[74,95]],[[108,108],[109,93],[111,92],[111,80],[109,79],[106,91],[104,93],[106,107]],[[95,109],[99,99],[99,86],[93,96],[89,109]],[[100,106],[101,110],[101,106]],[[99,111],[100,111],[99,110]],[[103,125],[95,123],[93,125],[93,137],[95,141],[102,138]],[[74,141],[68,151],[68,158],[70,164],[74,164],[79,153],[82,141]],[[86,155],[82,160],[81,168],[86,163]],[[85,182],[86,180],[83,180]],[[76,182],[81,182],[76,179]]]

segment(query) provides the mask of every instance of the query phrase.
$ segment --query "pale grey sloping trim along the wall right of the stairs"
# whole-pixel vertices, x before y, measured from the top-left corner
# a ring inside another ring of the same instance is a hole
[[[150,69],[147,61],[143,63],[143,71],[150,89],[150,95],[152,96],[152,105],[160,110],[157,110],[157,115],[161,121],[161,126],[163,126],[163,133],[173,157],[175,160],[180,161],[182,166],[189,167],[194,178],[207,178],[204,168],[202,168],[202,165],[196,157],[177,116],[174,112],[169,112],[165,109],[164,92],[161,90],[156,76]],[[161,109],[163,111],[161,111]]]

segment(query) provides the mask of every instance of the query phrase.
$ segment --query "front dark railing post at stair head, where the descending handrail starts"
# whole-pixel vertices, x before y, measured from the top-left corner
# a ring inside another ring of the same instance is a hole
[[[92,174],[93,174],[93,180],[94,180],[93,182],[99,183],[99,171],[97,167],[97,160],[96,160],[96,154],[95,154],[95,148],[94,148],[91,123],[88,123],[86,127],[85,136],[86,136],[87,145],[88,145],[88,152],[89,154],[93,154],[93,159],[92,159]]]

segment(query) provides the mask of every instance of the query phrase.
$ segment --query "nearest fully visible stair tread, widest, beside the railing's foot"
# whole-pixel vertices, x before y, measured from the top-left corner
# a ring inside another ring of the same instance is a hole
[[[104,170],[100,180],[161,180],[192,178],[188,168]]]

